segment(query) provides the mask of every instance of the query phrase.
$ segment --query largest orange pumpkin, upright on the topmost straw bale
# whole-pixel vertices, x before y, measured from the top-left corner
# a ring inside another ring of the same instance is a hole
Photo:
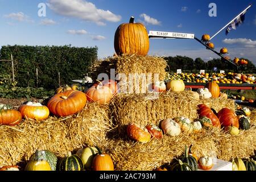
[[[134,23],[134,17],[131,16],[129,23],[122,23],[115,31],[114,48],[117,55],[127,53],[146,56],[149,50],[146,27],[142,23]]]

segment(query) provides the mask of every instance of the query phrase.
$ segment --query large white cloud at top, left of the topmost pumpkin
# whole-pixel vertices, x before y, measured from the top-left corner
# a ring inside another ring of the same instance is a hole
[[[104,24],[104,21],[119,22],[121,20],[120,15],[115,15],[109,10],[97,9],[93,3],[84,0],[48,0],[47,5],[57,14],[88,20],[100,25]]]

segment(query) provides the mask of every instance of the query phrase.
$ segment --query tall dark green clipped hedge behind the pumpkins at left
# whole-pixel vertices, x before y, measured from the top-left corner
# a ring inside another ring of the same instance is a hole
[[[11,59],[13,54],[15,81],[20,87],[55,89],[60,83],[71,84],[89,72],[97,60],[97,47],[71,46],[2,46],[0,59]],[[36,85],[38,68],[38,85]],[[0,73],[11,75],[11,62],[0,62]]]

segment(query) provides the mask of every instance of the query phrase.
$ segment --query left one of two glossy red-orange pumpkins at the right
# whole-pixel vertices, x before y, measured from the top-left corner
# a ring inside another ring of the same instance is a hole
[[[212,121],[212,125],[214,127],[221,127],[220,120],[218,119],[217,115],[213,113],[213,111],[208,107],[207,105],[204,104],[199,104],[197,107],[199,109],[197,110],[197,113],[199,114],[199,117],[207,117]]]

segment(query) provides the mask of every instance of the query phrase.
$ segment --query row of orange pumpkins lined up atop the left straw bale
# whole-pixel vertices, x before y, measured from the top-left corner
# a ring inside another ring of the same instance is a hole
[[[50,113],[57,117],[66,117],[81,111],[87,101],[106,104],[118,92],[117,82],[112,80],[97,82],[86,92],[79,89],[83,89],[79,84],[57,88],[55,95],[49,98],[46,105],[33,102],[29,97],[27,102],[18,107],[18,110],[0,104],[0,125],[15,126],[22,121],[22,118],[42,121],[47,119]]]

